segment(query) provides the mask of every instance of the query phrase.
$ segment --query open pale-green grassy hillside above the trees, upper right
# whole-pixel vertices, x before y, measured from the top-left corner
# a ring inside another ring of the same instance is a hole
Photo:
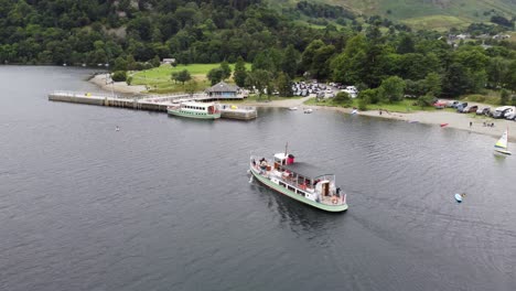
[[[299,2],[292,0],[290,2]],[[516,17],[516,0],[319,0],[358,14],[383,15],[417,29],[450,29]]]

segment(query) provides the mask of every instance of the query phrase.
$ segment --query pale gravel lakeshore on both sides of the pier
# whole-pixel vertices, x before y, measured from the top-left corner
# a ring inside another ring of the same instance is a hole
[[[110,78],[108,74],[98,74],[95,75],[92,79],[92,83],[96,84],[100,88],[105,90],[112,90],[117,93],[131,93],[131,94],[142,94],[146,90],[146,87],[140,86],[129,86],[125,82],[115,82],[114,84],[110,83]],[[343,107],[327,107],[327,106],[307,106],[303,103],[312,97],[303,97],[303,98],[293,98],[293,99],[286,99],[286,100],[277,100],[277,101],[268,101],[268,103],[257,103],[257,101],[248,101],[245,105],[248,106],[256,106],[256,107],[298,107],[302,108],[312,108],[313,110],[337,110],[345,114],[352,114],[351,108],[343,108]],[[472,104],[479,105],[479,107],[485,107],[487,105],[483,104]],[[493,108],[493,106],[491,106]],[[388,118],[388,119],[396,119],[406,122],[421,122],[428,125],[436,125],[440,126],[442,123],[448,123],[445,128],[455,128],[461,130],[467,130],[475,133],[492,136],[494,138],[499,138],[504,129],[508,128],[509,130],[509,141],[516,142],[516,122],[512,120],[505,119],[492,119],[482,116],[473,117],[472,114],[456,114],[450,111],[413,111],[410,114],[401,114],[401,112],[388,112],[383,111],[380,115],[378,110],[368,110],[368,111],[358,111],[358,115],[362,116],[370,116],[377,118]],[[470,126],[470,122],[472,126]],[[485,127],[484,122],[492,123],[494,122],[494,127]],[[444,128],[444,129],[445,129]],[[513,132],[513,134],[510,134]]]

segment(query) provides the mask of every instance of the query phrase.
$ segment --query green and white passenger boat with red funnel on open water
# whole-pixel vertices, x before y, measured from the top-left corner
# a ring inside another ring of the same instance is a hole
[[[347,209],[346,194],[335,186],[334,174],[322,174],[314,165],[294,162],[294,157],[276,153],[273,160],[250,157],[249,172],[271,190],[326,212]]]

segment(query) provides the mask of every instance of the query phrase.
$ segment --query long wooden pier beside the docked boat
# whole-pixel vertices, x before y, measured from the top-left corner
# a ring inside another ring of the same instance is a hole
[[[125,97],[103,93],[79,93],[79,91],[54,91],[49,94],[49,100],[74,103],[85,105],[97,105],[108,107],[128,108],[135,110],[166,112],[166,108],[181,101],[205,99],[205,95],[171,95],[171,96],[146,96]],[[237,108],[229,105],[221,105],[222,118],[250,120],[258,117],[255,107]]]

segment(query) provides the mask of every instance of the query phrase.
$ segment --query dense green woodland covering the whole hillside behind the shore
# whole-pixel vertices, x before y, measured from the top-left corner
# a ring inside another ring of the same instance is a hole
[[[516,90],[515,42],[494,37],[503,23],[473,24],[467,40],[454,40],[353,11],[315,1],[0,0],[0,62],[107,63],[123,72],[165,57],[239,60],[252,63],[239,72],[240,86],[289,95],[292,78],[318,78],[356,85],[368,103],[396,101],[393,88],[422,101]],[[314,21],[321,24],[308,24]]]

